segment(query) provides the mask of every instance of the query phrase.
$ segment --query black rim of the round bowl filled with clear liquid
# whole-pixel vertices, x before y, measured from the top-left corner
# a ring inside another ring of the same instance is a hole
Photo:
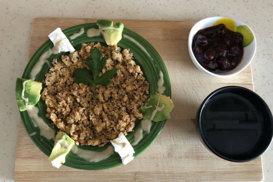
[[[239,87],[239,86],[226,86],[226,87],[221,87],[215,91],[213,91],[212,93],[210,93],[206,98],[205,100],[202,102],[202,104],[200,105],[199,107],[199,110],[197,112],[197,128],[198,128],[198,131],[199,131],[199,134],[200,134],[200,138],[203,140],[203,143],[206,145],[206,147],[211,151],[213,152],[215,155],[227,160],[227,161],[231,161],[231,162],[248,162],[248,161],[252,161],[256,158],[258,158],[259,156],[261,156],[267,149],[268,147],[270,146],[270,144],[272,143],[272,139],[273,139],[273,128],[271,129],[272,130],[272,134],[271,134],[271,140],[268,144],[268,146],[265,147],[264,150],[261,150],[259,153],[255,154],[253,158],[249,158],[249,159],[242,159],[242,160],[238,160],[238,159],[234,159],[232,157],[228,157],[228,156],[225,156],[225,155],[222,155],[221,153],[215,151],[213,149],[213,147],[211,147],[210,143],[206,140],[206,138],[204,137],[204,133],[202,131],[202,126],[201,126],[201,113],[204,109],[204,105],[214,96],[216,95],[217,93],[219,93],[220,91],[225,91],[226,89],[237,89],[237,90],[244,90],[244,91],[248,91],[250,92],[251,94],[253,94],[254,96],[256,96],[258,99],[261,100],[261,102],[263,103],[263,105],[265,106],[265,109],[270,117],[270,122],[272,123],[272,126],[273,126],[273,117],[272,117],[272,113],[269,109],[269,107],[267,106],[267,104],[265,103],[265,101],[258,95],[256,94],[254,91],[252,90],[249,90],[245,87]]]

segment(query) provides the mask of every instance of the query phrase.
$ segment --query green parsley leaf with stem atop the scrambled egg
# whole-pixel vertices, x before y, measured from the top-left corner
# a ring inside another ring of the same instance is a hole
[[[96,84],[99,85],[109,85],[111,84],[111,81],[109,79],[113,78],[116,74],[117,69],[108,70],[105,73],[103,73],[100,77],[98,75],[100,74],[101,70],[104,68],[106,62],[106,57],[101,57],[102,53],[98,50],[98,48],[94,48],[93,52],[90,53],[91,58],[87,58],[85,61],[85,64],[89,67],[90,71],[93,74],[93,78],[89,74],[87,69],[75,69],[74,71],[74,77],[73,80],[75,83],[86,83],[86,84],[92,84],[93,90],[94,90],[94,98],[95,102],[98,103],[97,97],[96,97]]]

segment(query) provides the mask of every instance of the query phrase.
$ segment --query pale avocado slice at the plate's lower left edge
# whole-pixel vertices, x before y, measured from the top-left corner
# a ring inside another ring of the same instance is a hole
[[[59,168],[65,162],[65,156],[71,150],[75,141],[62,131],[58,131],[55,137],[54,147],[49,156],[53,166]]]

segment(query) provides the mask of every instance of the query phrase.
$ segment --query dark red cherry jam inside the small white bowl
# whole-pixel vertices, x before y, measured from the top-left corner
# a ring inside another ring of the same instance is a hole
[[[207,70],[232,70],[244,54],[243,35],[224,24],[199,30],[193,37],[192,50],[197,61]]]

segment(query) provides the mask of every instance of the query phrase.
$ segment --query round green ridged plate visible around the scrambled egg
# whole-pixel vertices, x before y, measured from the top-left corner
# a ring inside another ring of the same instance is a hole
[[[88,43],[88,42],[100,42],[102,45],[106,46],[102,36],[91,37],[91,38],[86,36],[86,31],[89,28],[98,28],[96,23],[73,26],[71,28],[67,28],[66,30],[63,30],[63,33],[67,37],[69,37],[73,33],[79,32],[81,27],[85,29],[85,33],[80,35],[76,39],[73,39],[73,40],[69,39],[71,44],[76,50],[80,50],[82,43]],[[121,47],[122,49],[130,48],[130,52],[132,52],[134,55],[134,61],[141,67],[141,70],[144,73],[144,77],[146,78],[146,80],[148,80],[150,84],[150,88],[149,88],[150,93],[152,94],[157,92],[157,81],[159,80],[158,74],[159,74],[159,71],[161,70],[164,75],[164,86],[166,87],[166,90],[164,91],[164,95],[171,96],[171,86],[170,86],[169,75],[168,75],[164,62],[162,61],[161,57],[159,56],[155,48],[153,48],[152,45],[149,42],[147,42],[143,37],[141,37],[137,33],[134,33],[133,31],[127,28],[124,28],[123,35],[127,35],[135,39],[150,54],[150,56],[148,56],[147,53],[145,53],[141,48],[139,48],[137,44],[130,41],[129,39],[126,39],[125,37],[123,37],[121,41],[118,43],[118,46]],[[30,71],[32,70],[36,62],[39,60],[39,57],[42,55],[42,53],[44,53],[45,51],[47,51],[49,48],[52,48],[52,47],[53,47],[53,43],[50,40],[47,40],[36,51],[36,53],[30,59],[28,65],[26,66],[26,69],[23,73],[22,78],[27,78],[27,79],[30,78]],[[52,54],[48,60],[51,63],[53,59],[60,58],[61,55],[68,55],[68,54],[69,54],[68,52],[60,53],[57,55]],[[49,66],[47,64],[44,64],[41,71],[36,77],[36,81],[42,82],[43,80],[45,80],[45,74],[48,72],[48,70],[49,70]],[[44,122],[46,122],[49,125],[49,127],[53,128],[57,132],[57,128],[51,125],[52,121],[45,117],[46,106],[44,104],[44,101],[42,101],[42,99],[40,99],[36,107],[39,108],[38,115],[44,119]],[[26,132],[28,134],[31,134],[34,131],[37,133],[30,137],[32,141],[35,143],[35,145],[37,145],[37,147],[42,152],[44,152],[47,156],[49,156],[54,145],[54,140],[53,139],[48,140],[39,135],[40,130],[38,127],[33,126],[33,123],[31,122],[27,111],[23,111],[20,114],[21,114],[24,127],[26,129]],[[139,154],[144,152],[154,142],[154,140],[157,138],[160,131],[164,127],[165,122],[166,120],[161,122],[152,122],[150,134],[147,134],[145,131],[143,131],[143,139],[138,143],[138,145],[134,146],[134,151],[135,151],[134,157],[137,157]],[[140,127],[141,127],[140,120],[137,120],[135,123],[134,131],[130,132],[126,136],[130,143],[134,141],[134,133]],[[79,148],[88,149],[92,151],[102,151],[102,150],[105,150],[109,145],[110,144],[107,144],[104,147],[79,146]],[[94,163],[94,162],[88,162],[85,159],[76,156],[70,151],[65,158],[64,165],[77,168],[77,169],[83,169],[83,170],[102,170],[102,169],[107,169],[111,167],[116,167],[118,165],[122,165],[122,162],[121,162],[120,156],[117,153],[112,154],[109,158],[105,160]]]

